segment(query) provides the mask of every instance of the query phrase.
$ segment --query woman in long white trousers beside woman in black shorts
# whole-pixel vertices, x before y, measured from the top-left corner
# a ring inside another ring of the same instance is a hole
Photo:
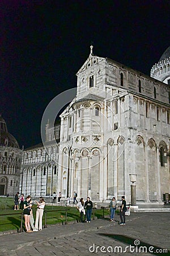
[[[42,230],[42,216],[44,213],[45,201],[42,196],[40,196],[40,201],[37,202],[37,211],[36,211],[36,222],[35,222],[35,229],[33,231]]]

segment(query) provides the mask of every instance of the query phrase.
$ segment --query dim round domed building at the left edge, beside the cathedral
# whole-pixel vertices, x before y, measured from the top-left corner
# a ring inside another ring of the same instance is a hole
[[[0,195],[15,195],[19,191],[22,150],[7,131],[0,115]]]

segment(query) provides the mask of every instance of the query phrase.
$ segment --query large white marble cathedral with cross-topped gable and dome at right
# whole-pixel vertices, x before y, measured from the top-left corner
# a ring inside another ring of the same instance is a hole
[[[48,123],[46,144],[23,152],[20,191],[61,191],[64,199],[76,191],[100,202],[125,195],[130,203],[135,174],[137,202],[161,202],[170,192],[169,48],[151,77],[95,56],[92,48],[76,74],[76,97],[61,114],[60,131]]]

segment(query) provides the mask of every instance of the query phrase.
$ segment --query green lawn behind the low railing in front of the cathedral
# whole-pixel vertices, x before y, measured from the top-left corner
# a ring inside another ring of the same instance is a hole
[[[20,230],[22,210],[14,210],[14,199],[7,197],[0,197],[0,232],[7,230]],[[42,218],[42,225],[45,224],[46,212],[46,225],[54,225],[58,223],[65,224],[65,216],[67,209],[67,221],[79,221],[80,213],[76,207],[60,207],[54,205],[46,205],[44,215]],[[4,215],[6,214],[6,215]],[[36,218],[36,207],[33,207],[33,216]],[[104,216],[109,217],[109,210],[104,210]],[[92,216],[93,217],[93,216]],[[95,209],[95,218],[103,217],[103,209]],[[24,228],[24,220],[23,220]]]

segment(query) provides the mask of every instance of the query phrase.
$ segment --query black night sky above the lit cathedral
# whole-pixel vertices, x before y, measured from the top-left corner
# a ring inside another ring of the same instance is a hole
[[[0,113],[20,147],[41,142],[49,102],[90,54],[150,75],[170,42],[170,1],[1,0]]]

